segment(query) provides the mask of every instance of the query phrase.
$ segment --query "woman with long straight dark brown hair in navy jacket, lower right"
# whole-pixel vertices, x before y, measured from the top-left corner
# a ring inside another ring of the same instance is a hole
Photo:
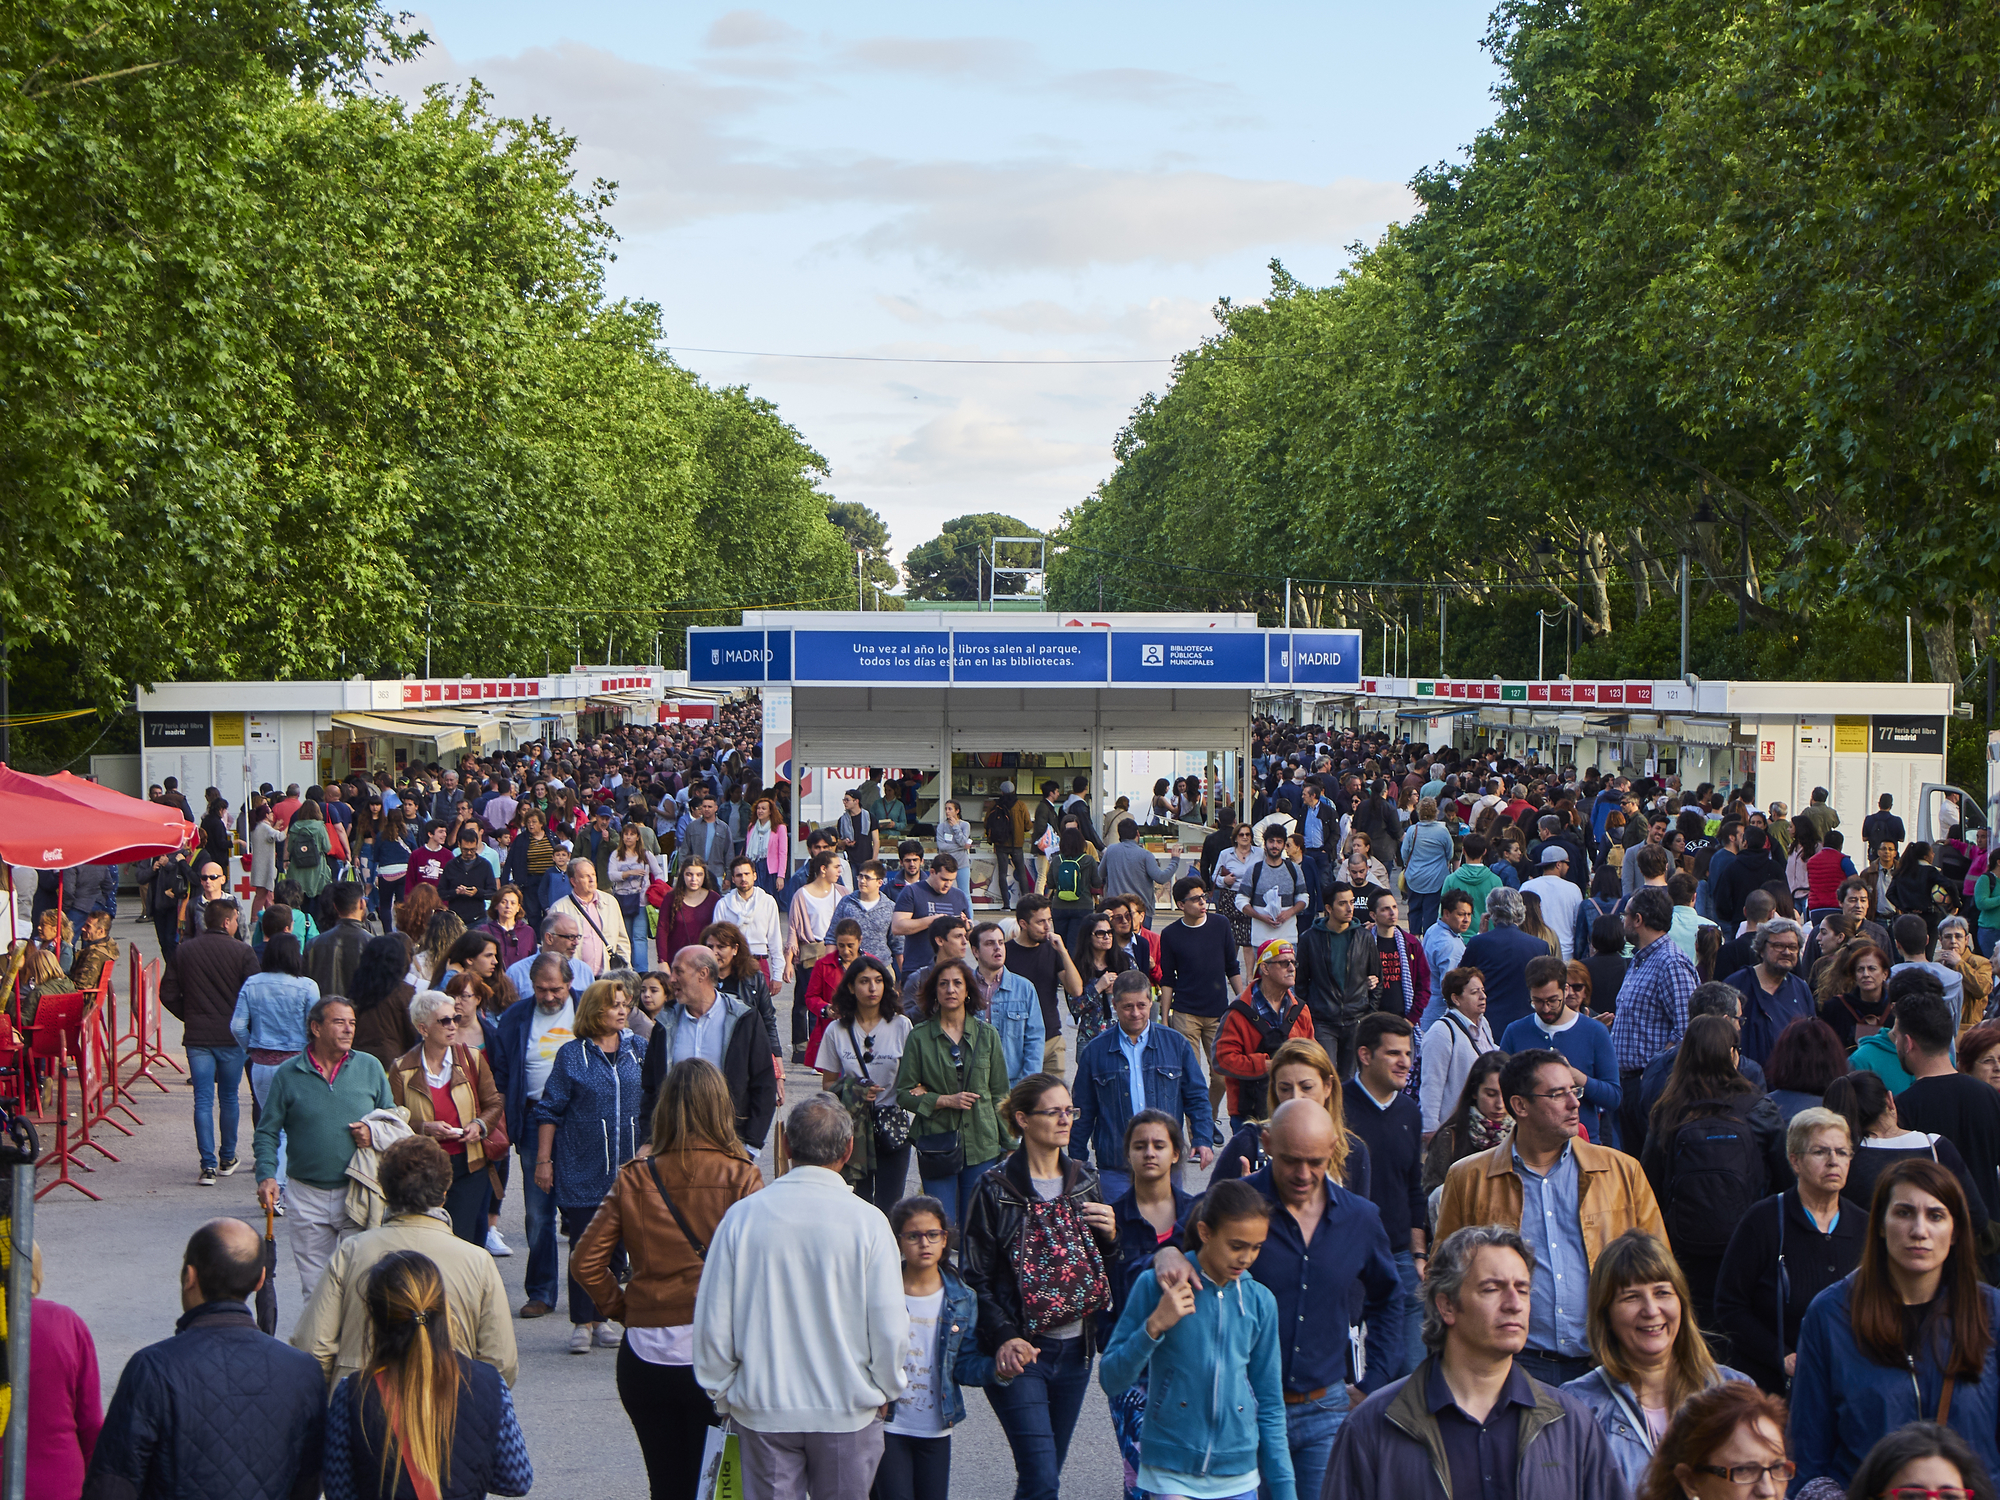
[[[1996,1314],[1958,1178],[1922,1158],[1896,1162],[1876,1182],[1860,1268],[1814,1298],[1798,1336],[1800,1476],[1852,1484],[1864,1454],[1906,1422],[1952,1428],[1992,1474]]]

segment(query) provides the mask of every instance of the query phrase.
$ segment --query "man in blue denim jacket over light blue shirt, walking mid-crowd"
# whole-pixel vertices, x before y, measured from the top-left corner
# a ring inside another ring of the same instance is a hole
[[[1172,1026],[1152,1024],[1152,992],[1146,976],[1128,968],[1112,984],[1112,1014],[1118,1026],[1098,1032],[1076,1054],[1076,1126],[1070,1152],[1076,1160],[1096,1156],[1104,1202],[1116,1204],[1132,1190],[1124,1160],[1124,1128],[1140,1110],[1160,1110],[1186,1120],[1194,1160],[1208,1166],[1214,1120],[1208,1112],[1208,1082],[1188,1038]]]

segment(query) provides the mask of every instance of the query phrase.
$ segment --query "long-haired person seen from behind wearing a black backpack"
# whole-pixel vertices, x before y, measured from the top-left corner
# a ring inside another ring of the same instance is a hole
[[[1702,1326],[1714,1322],[1716,1272],[1736,1220],[1792,1182],[1778,1106],[1736,1064],[1732,1018],[1690,1020],[1640,1156]]]

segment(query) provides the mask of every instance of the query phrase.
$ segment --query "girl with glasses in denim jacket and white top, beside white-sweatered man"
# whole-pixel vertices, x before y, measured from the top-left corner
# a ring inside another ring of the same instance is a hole
[[[960,1386],[994,1378],[980,1352],[980,1304],[952,1270],[952,1226],[936,1198],[904,1198],[888,1212],[902,1252],[902,1304],[910,1314],[902,1372],[908,1384],[882,1428],[874,1500],[946,1500],[952,1490],[952,1428],[966,1420]]]

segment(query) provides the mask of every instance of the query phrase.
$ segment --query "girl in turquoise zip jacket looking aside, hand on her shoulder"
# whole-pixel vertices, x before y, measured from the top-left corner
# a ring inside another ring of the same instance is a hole
[[[1262,1486],[1270,1500],[1298,1500],[1278,1372],[1278,1302],[1244,1276],[1270,1234],[1270,1204],[1248,1182],[1218,1182],[1188,1234],[1202,1284],[1162,1292],[1152,1270],[1140,1272],[1098,1362],[1098,1384],[1110,1396],[1146,1376],[1138,1488],[1252,1500]]]

